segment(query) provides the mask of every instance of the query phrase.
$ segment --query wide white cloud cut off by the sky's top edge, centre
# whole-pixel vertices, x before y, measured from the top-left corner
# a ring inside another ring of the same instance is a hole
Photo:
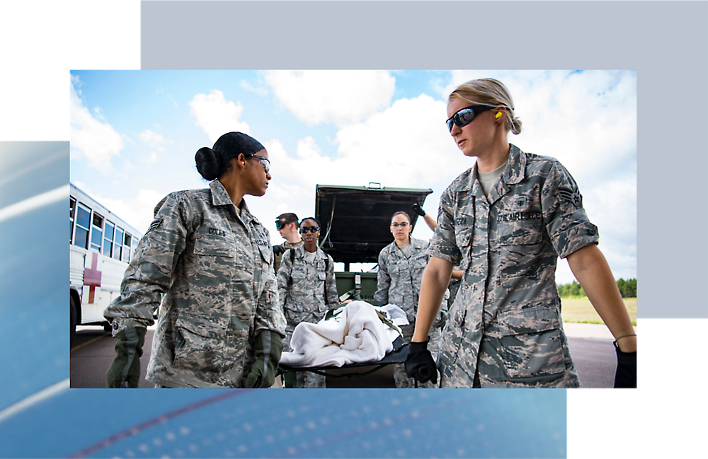
[[[308,124],[359,122],[391,103],[396,79],[383,70],[266,71],[280,103]]]

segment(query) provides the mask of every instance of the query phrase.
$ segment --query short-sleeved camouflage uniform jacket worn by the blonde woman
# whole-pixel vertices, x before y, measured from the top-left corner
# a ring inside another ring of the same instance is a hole
[[[443,330],[442,387],[577,388],[561,322],[556,260],[598,242],[575,180],[554,158],[511,146],[484,196],[476,165],[440,198],[430,255],[459,264]]]

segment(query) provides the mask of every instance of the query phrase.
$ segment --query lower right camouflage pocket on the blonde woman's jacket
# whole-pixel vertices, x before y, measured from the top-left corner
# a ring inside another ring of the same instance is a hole
[[[499,318],[501,358],[510,378],[554,375],[566,371],[555,308],[515,310]]]

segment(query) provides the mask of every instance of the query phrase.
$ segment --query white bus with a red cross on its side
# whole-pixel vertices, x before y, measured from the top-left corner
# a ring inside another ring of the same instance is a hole
[[[142,237],[135,228],[69,184],[70,342],[76,325],[103,325],[103,310],[120,292],[125,268]]]

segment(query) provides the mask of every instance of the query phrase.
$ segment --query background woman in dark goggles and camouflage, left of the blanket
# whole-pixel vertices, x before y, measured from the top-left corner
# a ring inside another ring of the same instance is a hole
[[[278,270],[278,298],[285,310],[285,351],[292,352],[290,339],[297,324],[318,323],[328,310],[339,306],[334,278],[334,260],[317,246],[319,221],[302,219],[300,234],[303,244],[285,250]],[[316,373],[297,372],[298,388],[324,388],[325,377]]]

